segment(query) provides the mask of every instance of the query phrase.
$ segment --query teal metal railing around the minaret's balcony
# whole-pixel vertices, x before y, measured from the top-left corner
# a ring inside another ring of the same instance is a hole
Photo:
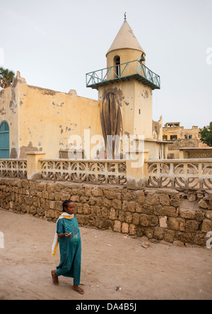
[[[160,76],[148,69],[139,60],[90,72],[86,74],[86,86],[98,88],[98,86],[110,83],[110,81],[125,81],[126,79],[137,79],[153,89],[160,89]]]

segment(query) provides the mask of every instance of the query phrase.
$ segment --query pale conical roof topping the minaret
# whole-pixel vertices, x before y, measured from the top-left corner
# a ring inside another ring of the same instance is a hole
[[[138,40],[136,39],[136,36],[131,30],[131,27],[126,22],[126,19],[124,20],[124,23],[122,27],[120,28],[119,33],[117,33],[117,36],[112,42],[112,45],[110,46],[110,50],[108,50],[107,54],[109,52],[112,52],[113,50],[118,50],[118,49],[134,49],[134,50],[139,50],[141,52],[144,52],[143,48],[141,47]],[[106,57],[107,57],[107,54],[106,54]]]

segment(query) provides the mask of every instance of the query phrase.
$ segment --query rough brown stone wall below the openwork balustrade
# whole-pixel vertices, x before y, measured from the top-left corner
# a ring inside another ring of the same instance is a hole
[[[57,221],[66,199],[75,202],[80,226],[146,236],[155,243],[205,246],[206,233],[212,231],[212,191],[134,191],[117,186],[0,179],[0,209]]]

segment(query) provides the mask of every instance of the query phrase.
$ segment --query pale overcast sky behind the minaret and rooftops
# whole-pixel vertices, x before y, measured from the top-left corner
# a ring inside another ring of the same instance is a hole
[[[28,85],[98,99],[86,73],[126,20],[160,75],[153,120],[185,128],[212,121],[212,0],[0,0],[0,66]]]

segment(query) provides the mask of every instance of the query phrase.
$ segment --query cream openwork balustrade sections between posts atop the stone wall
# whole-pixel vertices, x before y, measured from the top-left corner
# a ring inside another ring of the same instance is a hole
[[[43,180],[126,185],[124,160],[40,159]],[[212,158],[145,161],[146,187],[212,190]],[[0,176],[28,178],[26,159],[1,159]]]

